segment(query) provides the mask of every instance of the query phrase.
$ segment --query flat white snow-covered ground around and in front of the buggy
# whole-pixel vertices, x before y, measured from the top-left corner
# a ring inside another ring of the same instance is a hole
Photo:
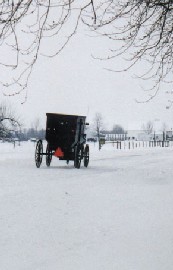
[[[37,169],[33,143],[0,143],[0,269],[173,269],[173,148],[90,149]]]

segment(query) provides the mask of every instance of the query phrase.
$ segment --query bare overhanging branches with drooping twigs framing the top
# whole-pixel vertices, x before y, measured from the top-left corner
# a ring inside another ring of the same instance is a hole
[[[52,52],[49,48],[48,56],[58,55],[80,22],[113,42],[105,59],[129,52],[130,64],[124,70],[141,59],[149,62],[142,76],[154,81],[155,92],[149,99],[156,95],[160,83],[172,76],[172,0],[8,0],[0,2],[0,46],[2,52],[8,50],[9,58],[1,57],[0,63],[10,69],[11,81],[2,85],[18,87],[8,95],[26,91],[38,57],[46,55],[42,44],[54,39],[59,46]]]

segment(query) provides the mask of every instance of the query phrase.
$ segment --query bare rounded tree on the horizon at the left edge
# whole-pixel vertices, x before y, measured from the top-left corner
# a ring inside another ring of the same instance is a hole
[[[6,139],[19,131],[21,123],[14,110],[7,104],[0,104],[0,139]]]

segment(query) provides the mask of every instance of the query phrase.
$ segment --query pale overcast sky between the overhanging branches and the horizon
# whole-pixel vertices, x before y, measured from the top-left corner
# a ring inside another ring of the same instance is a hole
[[[121,124],[126,129],[140,129],[148,120],[155,121],[157,127],[163,122],[173,127],[172,110],[166,110],[170,98],[165,94],[167,89],[161,89],[149,103],[137,103],[136,100],[147,99],[142,88],[147,88],[148,83],[134,79],[135,70],[114,73],[105,69],[123,68],[120,59],[110,63],[92,58],[92,54],[104,56],[108,48],[104,39],[81,31],[58,57],[40,57],[30,78],[25,104],[20,104],[22,95],[10,98],[25,125],[29,127],[39,118],[44,128],[46,112],[87,115],[91,123],[95,113],[100,112],[105,128]],[[49,51],[49,47],[46,49]],[[143,64],[136,69],[143,70]]]

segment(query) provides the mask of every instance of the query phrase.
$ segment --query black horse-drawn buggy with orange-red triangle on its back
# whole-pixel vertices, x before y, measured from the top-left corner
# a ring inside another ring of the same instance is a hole
[[[86,116],[47,113],[46,152],[43,152],[43,142],[38,140],[35,149],[35,164],[39,168],[43,156],[46,165],[50,166],[52,156],[59,160],[74,161],[74,167],[80,168],[81,160],[84,166],[89,163],[89,145],[86,144]]]

